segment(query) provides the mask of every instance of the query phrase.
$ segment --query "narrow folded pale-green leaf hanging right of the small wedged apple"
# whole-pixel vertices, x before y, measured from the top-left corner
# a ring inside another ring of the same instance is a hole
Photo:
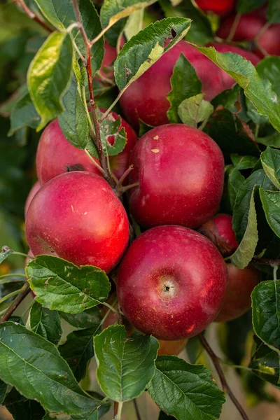
[[[255,201],[254,201],[255,188],[251,193],[251,199],[248,209],[248,221],[247,227],[237,250],[230,256],[230,260],[238,268],[247,267],[248,263],[252,260],[255,254],[255,248],[258,244],[258,225],[257,225],[257,214],[255,212]]]

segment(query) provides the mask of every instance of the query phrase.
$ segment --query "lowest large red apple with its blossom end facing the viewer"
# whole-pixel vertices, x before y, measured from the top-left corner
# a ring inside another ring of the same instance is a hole
[[[147,230],[128,248],[117,281],[123,314],[158,339],[193,337],[214,321],[227,286],[218,249],[181,226]]]

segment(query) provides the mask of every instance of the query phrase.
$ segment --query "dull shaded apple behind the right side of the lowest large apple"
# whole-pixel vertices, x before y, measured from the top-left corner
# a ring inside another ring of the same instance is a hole
[[[217,322],[231,321],[245,314],[251,307],[251,293],[260,283],[260,273],[253,265],[240,269],[228,263],[227,269],[228,286]]]

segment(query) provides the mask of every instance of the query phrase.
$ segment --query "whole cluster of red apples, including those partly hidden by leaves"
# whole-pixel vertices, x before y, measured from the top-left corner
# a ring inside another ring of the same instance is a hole
[[[197,5],[224,15],[234,1],[197,0]],[[237,40],[253,36],[244,28],[252,27],[246,19],[262,19],[262,9],[254,13],[241,18]],[[219,36],[226,38],[232,19],[222,21]],[[212,45],[220,52],[237,52],[253,64],[260,59],[227,43]],[[206,99],[234,84],[201,52],[180,41],[125,90],[120,105],[126,120],[121,118],[120,128],[125,129],[127,144],[109,158],[109,165],[118,180],[133,165],[125,181],[134,185],[127,200],[120,200],[103,178],[99,160],[72,146],[54,120],[38,144],[38,182],[25,208],[31,253],[94,265],[107,274],[116,267],[116,293],[127,331],[137,329],[162,340],[162,353],[178,352],[188,337],[213,321],[244,314],[260,281],[253,266],[238,269],[223,259],[238,244],[232,216],[217,215],[224,180],[221,149],[201,130],[170,124],[167,118],[170,78],[181,54],[197,71]],[[106,45],[104,67],[115,57],[116,50]],[[113,112],[110,116],[119,117]],[[153,128],[137,139],[139,120]],[[113,137],[108,141],[113,144]],[[132,219],[144,233],[131,243]],[[104,326],[115,321],[112,314]],[[175,347],[173,340],[180,340]]]

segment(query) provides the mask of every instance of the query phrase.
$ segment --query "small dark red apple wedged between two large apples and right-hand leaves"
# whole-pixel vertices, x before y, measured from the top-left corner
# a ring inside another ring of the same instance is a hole
[[[199,232],[209,238],[224,257],[228,257],[238,248],[230,214],[218,214],[204,223]]]

